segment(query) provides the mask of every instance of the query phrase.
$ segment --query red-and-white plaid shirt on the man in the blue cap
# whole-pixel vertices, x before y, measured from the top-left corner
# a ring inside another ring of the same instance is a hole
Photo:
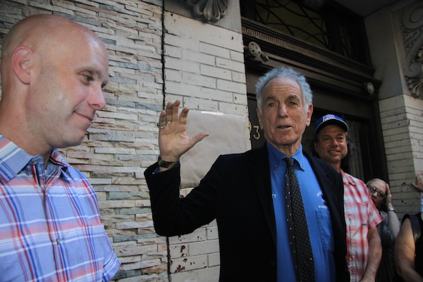
[[[360,281],[367,266],[367,233],[382,218],[362,180],[341,171],[344,185],[345,222],[347,224],[347,263],[351,282]]]

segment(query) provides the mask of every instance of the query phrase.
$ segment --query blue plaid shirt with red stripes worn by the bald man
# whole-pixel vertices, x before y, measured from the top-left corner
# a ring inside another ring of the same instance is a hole
[[[87,178],[0,135],[0,280],[109,281],[119,265]]]

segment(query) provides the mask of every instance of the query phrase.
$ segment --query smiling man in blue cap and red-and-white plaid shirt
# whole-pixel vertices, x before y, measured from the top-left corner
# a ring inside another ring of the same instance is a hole
[[[348,154],[347,134],[348,125],[342,118],[333,114],[322,116],[314,126],[314,149],[320,159],[331,164],[343,178],[351,281],[374,281],[382,253],[376,226],[382,219],[362,180],[341,168],[341,161]]]

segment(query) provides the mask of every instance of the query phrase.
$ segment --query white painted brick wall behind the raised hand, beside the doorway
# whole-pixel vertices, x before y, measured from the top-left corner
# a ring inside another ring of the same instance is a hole
[[[168,12],[164,28],[166,101],[180,99],[190,109],[247,116],[242,35]],[[241,130],[248,139],[247,124]],[[169,250],[172,282],[219,281],[216,221],[169,238]]]

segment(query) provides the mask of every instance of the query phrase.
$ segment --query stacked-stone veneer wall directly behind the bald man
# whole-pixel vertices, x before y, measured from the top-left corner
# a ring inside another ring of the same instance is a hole
[[[143,171],[157,160],[163,105],[162,3],[145,1],[0,1],[0,38],[37,13],[71,18],[99,35],[109,50],[107,106],[85,141],[63,150],[90,179],[102,221],[122,262],[116,281],[167,281],[166,238],[153,228]]]

